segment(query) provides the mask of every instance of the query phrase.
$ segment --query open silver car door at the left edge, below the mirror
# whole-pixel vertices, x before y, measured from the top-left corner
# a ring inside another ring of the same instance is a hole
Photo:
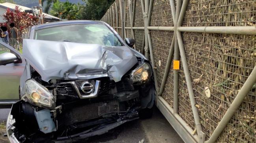
[[[19,100],[20,78],[25,67],[25,60],[19,51],[0,41],[0,56],[6,52],[15,54],[17,61],[0,65],[0,105],[12,104]]]

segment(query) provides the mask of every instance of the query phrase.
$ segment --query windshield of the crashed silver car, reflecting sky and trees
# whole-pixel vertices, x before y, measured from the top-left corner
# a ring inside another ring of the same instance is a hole
[[[35,39],[122,46],[116,35],[104,24],[65,25],[40,29],[36,31]]]

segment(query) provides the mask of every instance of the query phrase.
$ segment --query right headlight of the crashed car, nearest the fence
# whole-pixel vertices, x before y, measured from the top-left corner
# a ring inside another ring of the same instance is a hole
[[[142,84],[148,82],[151,75],[151,65],[149,63],[142,63],[131,72],[131,80],[133,81],[133,83]]]

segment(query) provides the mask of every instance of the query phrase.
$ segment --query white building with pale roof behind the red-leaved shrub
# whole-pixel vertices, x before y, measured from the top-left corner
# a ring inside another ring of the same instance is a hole
[[[6,9],[9,8],[11,11],[14,11],[16,5],[17,4],[11,4],[9,2],[0,4],[0,23],[4,22],[4,20],[3,20],[4,17],[2,15],[6,13]],[[21,8],[21,11],[31,10],[31,8],[29,8],[29,7],[25,7],[25,6],[21,6],[21,5],[18,5],[18,6],[19,6],[19,8]],[[43,15],[45,15],[45,18],[44,18],[45,22],[60,21],[60,18],[52,16],[50,14],[43,13]]]

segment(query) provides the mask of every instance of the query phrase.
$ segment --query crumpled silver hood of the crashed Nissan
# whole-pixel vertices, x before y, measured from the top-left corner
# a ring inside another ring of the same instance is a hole
[[[23,56],[42,80],[85,80],[108,76],[114,81],[138,61],[130,48],[96,44],[23,40]]]

